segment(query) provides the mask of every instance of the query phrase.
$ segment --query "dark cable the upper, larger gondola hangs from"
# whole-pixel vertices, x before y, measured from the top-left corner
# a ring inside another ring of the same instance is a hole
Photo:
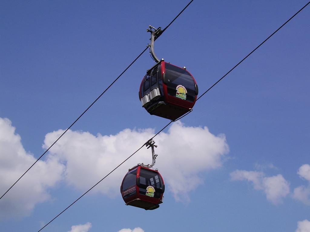
[[[161,32],[161,34],[160,35],[158,35],[157,36],[157,38],[159,37],[159,36],[161,36],[162,35],[162,33],[175,21],[175,19],[176,18],[178,18],[179,17],[179,15],[189,6],[189,4],[191,4],[193,2],[193,0],[192,1],[190,1],[184,8],[183,8],[183,10],[170,22],[170,24],[168,24],[168,26],[166,26],[165,27],[165,29]],[[2,199],[2,197],[4,196],[4,195],[6,195],[7,194],[7,192],[8,191],[10,191],[10,189],[33,167],[33,165],[35,165],[44,155],[45,155],[45,153],[47,153],[47,151],[83,116],[83,114],[85,114],[86,113],[86,111],[87,110],[89,110],[89,108],[91,108],[91,106],[92,105],[94,105],[95,104],[95,102],[127,71],[127,69],[129,68],[129,67],[131,67],[131,65],[146,51],[148,49],[148,47],[146,47],[138,56],[137,56],[137,58],[135,58],[134,59],[134,61],[133,62],[131,62],[131,64],[130,65],[128,65],[128,67],[108,86],[108,88],[106,88],[105,90],[104,90],[104,92],[102,92],[101,94],[100,94],[100,96],[99,97],[97,97],[96,98],[96,100],[93,102],[93,103],[91,103],[91,105],[90,106],[88,106],[87,107],[87,109],[64,131],[64,133],[62,133],[60,136],[59,136],[59,138],[49,147],[49,148],[47,148],[47,150],[24,172],[24,174],[22,174],[21,176],[20,176],[20,178],[18,178],[18,180],[16,180],[16,182],[0,197],[0,200]]]

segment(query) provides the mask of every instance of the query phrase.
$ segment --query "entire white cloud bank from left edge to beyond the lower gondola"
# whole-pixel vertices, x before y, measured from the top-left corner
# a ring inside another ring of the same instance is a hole
[[[48,148],[63,130],[48,133]],[[85,191],[134,153],[155,134],[153,129],[125,129],[116,135],[92,135],[83,131],[67,133],[38,161],[0,201],[0,218],[24,217],[36,204],[51,199],[48,191],[59,181]],[[213,135],[207,127],[186,127],[175,122],[155,138],[158,154],[155,168],[161,172],[166,189],[175,200],[188,201],[189,193],[203,183],[201,172],[223,165],[228,153],[224,135]],[[119,196],[128,168],[151,163],[151,149],[142,148],[125,164],[92,190],[109,197]],[[6,118],[0,118],[0,192],[3,194],[34,162],[20,135]]]

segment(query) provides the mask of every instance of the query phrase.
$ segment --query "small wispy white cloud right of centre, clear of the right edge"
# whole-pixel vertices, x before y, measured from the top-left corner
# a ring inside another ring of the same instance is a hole
[[[281,174],[266,177],[263,172],[236,170],[230,174],[232,180],[247,180],[253,183],[254,189],[262,190],[272,204],[282,203],[290,193],[289,183]]]

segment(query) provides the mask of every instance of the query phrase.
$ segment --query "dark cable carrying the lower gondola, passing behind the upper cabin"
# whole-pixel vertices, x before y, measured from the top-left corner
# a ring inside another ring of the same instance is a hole
[[[192,0],[193,1],[193,0]],[[191,2],[192,2],[191,1]],[[247,57],[249,57],[256,49],[258,49],[264,42],[266,42],[270,37],[272,37],[278,30],[280,30],[286,23],[288,23],[291,19],[293,19],[300,11],[302,11],[310,2],[308,2],[305,6],[303,6],[303,8],[301,8],[296,14],[294,14],[289,20],[287,20],[280,28],[278,28],[275,32],[273,32],[266,40],[264,40],[259,46],[257,46],[252,52],[250,52],[245,58],[243,58],[237,65],[235,65],[230,71],[228,71],[228,73],[230,73],[235,67],[237,67],[242,61],[244,61]],[[186,6],[187,7],[187,6]],[[170,25],[170,24],[169,24]],[[220,80],[222,80],[226,75],[228,75],[228,73],[226,73],[222,78],[220,78],[215,84],[213,84],[206,92],[208,92],[211,88],[213,88],[217,83],[219,83]],[[199,98],[201,98],[206,92],[204,92]],[[197,100],[199,99],[197,98]],[[192,110],[190,110],[187,114],[183,115],[180,118],[183,118],[184,116],[188,115],[189,113],[191,113]],[[179,118],[179,119],[180,119]],[[160,131],[157,132],[156,135],[154,135],[151,139],[149,139],[148,141],[152,140],[155,136],[157,136],[160,132],[162,132],[166,127],[168,127],[172,122],[178,121],[179,119],[176,120],[171,120],[165,127],[163,127]],[[145,143],[146,144],[146,143]],[[133,154],[131,154],[126,160],[124,160],[120,165],[118,165],[116,168],[114,168],[110,173],[108,173],[104,178],[106,178],[109,174],[111,174],[114,170],[116,170],[119,166],[121,166],[124,162],[126,162],[130,157],[132,157],[135,153],[137,153],[142,147],[144,147],[143,144],[138,150],[136,150]],[[82,196],[84,196],[87,192],[89,192],[92,188],[94,188],[97,184],[99,184],[102,180],[104,180],[104,178],[102,178],[98,183],[96,183],[93,187],[91,187],[88,191],[86,191],[83,195],[81,195],[77,200],[75,200],[72,204],[70,204],[67,208],[65,208],[60,214],[62,214],[64,211],[66,211],[70,206],[72,206],[75,202],[77,202],[80,198],[82,198]],[[52,221],[54,221],[58,216],[60,216],[60,214],[58,214],[56,217],[54,217],[50,222],[48,222],[45,226],[43,226],[39,231],[41,231],[44,227],[46,227],[48,224],[50,224]]]

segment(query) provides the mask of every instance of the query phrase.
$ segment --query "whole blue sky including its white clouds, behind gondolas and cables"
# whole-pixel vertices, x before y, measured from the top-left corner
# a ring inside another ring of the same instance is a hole
[[[148,25],[187,3],[0,3],[1,195],[143,51]],[[201,94],[306,3],[195,0],[155,53],[186,66]],[[155,138],[159,209],[119,192],[128,168],[150,162],[144,149],[43,231],[310,231],[309,12]],[[169,122],[138,98],[153,64],[145,52],[0,200],[0,231],[38,231]]]

